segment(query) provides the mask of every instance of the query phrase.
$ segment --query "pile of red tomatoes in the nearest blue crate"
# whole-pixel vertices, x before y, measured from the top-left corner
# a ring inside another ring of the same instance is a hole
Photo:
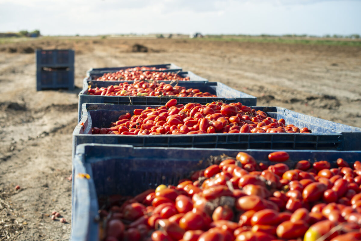
[[[288,158],[273,152],[277,163],[267,165],[239,152],[176,187],[111,196],[99,211],[101,240],[361,240],[361,162],[302,160],[291,169]]]

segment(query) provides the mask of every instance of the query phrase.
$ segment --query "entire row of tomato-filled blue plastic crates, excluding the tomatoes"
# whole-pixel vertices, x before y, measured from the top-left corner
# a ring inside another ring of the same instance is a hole
[[[197,135],[92,135],[92,127],[109,127],[119,115],[147,106],[157,108],[176,98],[178,104],[206,104],[218,99],[193,97],[95,96],[88,87],[108,87],[117,81],[97,80],[104,73],[136,66],[90,69],[79,93],[78,125],[73,132],[73,183],[71,240],[96,241],[100,235],[99,197],[135,196],[160,184],[177,185],[190,173],[209,165],[210,155],[238,152],[251,154],[257,162],[270,164],[268,154],[284,150],[291,168],[300,160],[316,162],[337,158],[361,161],[361,128],[300,114],[273,106],[257,106],[254,96],[220,82],[208,82],[174,64],[147,67],[167,68],[192,76],[179,86],[212,92],[225,103],[242,102],[269,117],[283,118],[287,124],[307,127],[312,133],[213,133]],[[152,70],[158,71],[158,70]],[[192,80],[193,78],[193,80]],[[84,174],[88,174],[84,175]],[[88,178],[84,178],[87,176]]]

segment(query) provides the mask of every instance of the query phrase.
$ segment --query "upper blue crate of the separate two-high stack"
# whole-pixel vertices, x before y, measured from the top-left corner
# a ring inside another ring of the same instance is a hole
[[[72,49],[36,49],[37,67],[74,67],[74,50]]]

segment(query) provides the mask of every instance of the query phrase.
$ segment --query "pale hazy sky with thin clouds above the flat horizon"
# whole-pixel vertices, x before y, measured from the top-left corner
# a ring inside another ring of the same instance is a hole
[[[361,0],[0,0],[0,32],[361,34]]]

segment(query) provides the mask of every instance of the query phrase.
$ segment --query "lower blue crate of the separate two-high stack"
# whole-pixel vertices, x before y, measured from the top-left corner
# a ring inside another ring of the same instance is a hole
[[[74,89],[74,67],[47,68],[36,71],[36,90],[42,89]]]

